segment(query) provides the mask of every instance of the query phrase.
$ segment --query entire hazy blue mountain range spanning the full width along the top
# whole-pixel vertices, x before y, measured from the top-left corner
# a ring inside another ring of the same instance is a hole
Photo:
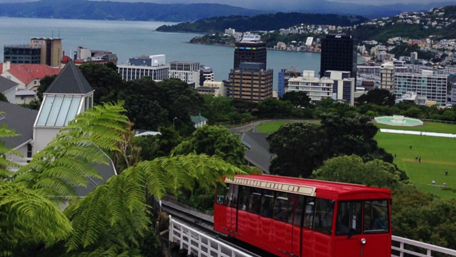
[[[152,3],[150,2],[151,0],[142,1],[145,2],[119,2],[104,0],[0,0],[0,16],[179,22],[195,21],[216,16],[255,16],[259,14],[277,12],[301,12],[377,18],[394,16],[405,11],[428,11],[434,7],[456,4],[456,0],[445,2],[433,0],[431,3],[427,4],[397,3],[381,6],[333,2],[327,0],[306,0],[302,2],[287,1],[286,3],[277,0],[262,0],[261,4],[255,3],[254,1],[228,1],[231,4],[244,6],[244,8],[241,8],[216,3],[159,4]],[[182,0],[156,1],[172,2]]]

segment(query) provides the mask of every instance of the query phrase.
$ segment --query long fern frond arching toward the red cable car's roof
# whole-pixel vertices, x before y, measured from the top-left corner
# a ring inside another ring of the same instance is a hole
[[[150,223],[148,196],[176,194],[182,187],[193,189],[195,181],[211,187],[222,176],[244,173],[217,157],[189,154],[145,161],[110,178],[94,192],[65,210],[74,232],[68,238],[68,252],[94,245],[138,247]],[[111,241],[111,242],[110,242]]]

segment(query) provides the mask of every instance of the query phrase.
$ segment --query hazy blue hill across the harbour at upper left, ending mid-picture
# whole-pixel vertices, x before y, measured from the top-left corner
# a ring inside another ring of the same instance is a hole
[[[156,4],[88,0],[42,0],[27,3],[2,3],[0,16],[95,19],[194,21],[214,16],[254,16],[265,11],[249,10],[226,4]]]

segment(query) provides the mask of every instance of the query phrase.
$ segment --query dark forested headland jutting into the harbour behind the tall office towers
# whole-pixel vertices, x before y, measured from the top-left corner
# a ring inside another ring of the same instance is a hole
[[[302,14],[277,13],[263,14],[252,17],[228,16],[213,17],[195,22],[184,22],[172,26],[161,26],[157,31],[162,32],[223,32],[234,28],[236,31],[271,31],[289,28],[296,24],[353,26],[367,21],[362,16],[340,16],[334,14]]]

